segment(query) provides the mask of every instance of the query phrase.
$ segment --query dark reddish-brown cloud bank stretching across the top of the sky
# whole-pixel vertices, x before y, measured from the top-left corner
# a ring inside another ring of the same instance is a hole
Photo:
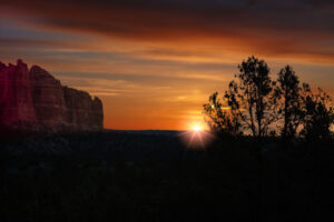
[[[334,61],[334,4],[327,0],[1,0],[1,6],[47,29]]]

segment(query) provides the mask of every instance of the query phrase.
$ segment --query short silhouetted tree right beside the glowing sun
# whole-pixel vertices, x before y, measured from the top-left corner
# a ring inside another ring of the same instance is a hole
[[[236,137],[242,134],[240,122],[235,109],[224,107],[218,99],[218,92],[209,97],[209,102],[205,103],[203,113],[210,130],[219,135]]]

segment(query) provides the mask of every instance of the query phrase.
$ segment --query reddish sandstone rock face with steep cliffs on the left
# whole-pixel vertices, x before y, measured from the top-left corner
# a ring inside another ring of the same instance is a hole
[[[18,60],[0,62],[0,130],[101,131],[102,102]]]

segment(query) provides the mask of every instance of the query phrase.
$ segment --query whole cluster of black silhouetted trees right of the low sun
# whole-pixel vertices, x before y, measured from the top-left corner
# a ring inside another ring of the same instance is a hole
[[[331,135],[334,108],[330,95],[321,89],[313,93],[306,83],[301,88],[292,67],[281,69],[277,81],[271,80],[267,63],[255,57],[243,61],[238,70],[223,100],[215,92],[204,104],[205,121],[214,132],[252,134],[258,140],[276,137],[277,131],[285,140]]]

